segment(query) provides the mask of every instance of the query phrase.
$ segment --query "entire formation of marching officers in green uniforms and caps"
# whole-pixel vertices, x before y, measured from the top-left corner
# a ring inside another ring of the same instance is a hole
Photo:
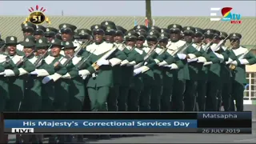
[[[76,29],[28,22],[22,42],[1,41],[0,111],[243,110],[245,66],[256,58],[241,34],[110,21]]]

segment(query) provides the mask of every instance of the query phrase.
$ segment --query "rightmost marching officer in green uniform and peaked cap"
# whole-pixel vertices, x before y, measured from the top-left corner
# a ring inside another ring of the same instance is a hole
[[[232,79],[231,79],[231,106],[234,106],[237,111],[243,111],[243,92],[246,84],[246,65],[256,63],[255,55],[248,49],[240,46],[241,34],[233,33],[229,36],[233,49],[230,52],[230,58],[227,62],[230,64]],[[234,110],[234,107],[231,107]]]

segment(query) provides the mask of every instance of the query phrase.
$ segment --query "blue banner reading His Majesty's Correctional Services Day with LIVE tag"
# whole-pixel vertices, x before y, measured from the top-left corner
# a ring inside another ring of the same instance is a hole
[[[193,133],[197,120],[5,120],[5,133]]]

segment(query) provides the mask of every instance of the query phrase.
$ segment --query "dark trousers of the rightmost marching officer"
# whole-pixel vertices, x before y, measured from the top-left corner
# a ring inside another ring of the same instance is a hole
[[[245,90],[244,84],[238,83],[235,81],[232,82],[232,91],[231,91],[231,98],[233,99],[233,101],[231,100],[231,102],[233,102],[233,106],[232,106],[233,108],[231,108],[232,110],[234,110],[234,106],[235,106],[237,111],[243,111],[244,90]],[[234,105],[234,101],[235,101],[235,105]]]

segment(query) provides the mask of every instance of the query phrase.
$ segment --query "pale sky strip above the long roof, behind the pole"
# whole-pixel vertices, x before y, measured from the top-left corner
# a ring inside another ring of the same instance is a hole
[[[29,8],[46,8],[51,16],[145,16],[145,1],[0,1],[1,16],[28,16]],[[211,7],[233,7],[241,16],[256,17],[256,1],[151,1],[152,16],[210,16]],[[217,12],[221,15],[221,12]]]

